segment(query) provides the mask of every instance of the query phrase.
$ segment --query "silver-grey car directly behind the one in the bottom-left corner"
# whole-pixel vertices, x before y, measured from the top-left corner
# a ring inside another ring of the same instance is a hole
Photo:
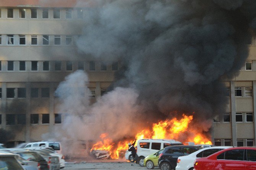
[[[46,160],[37,152],[31,151],[29,149],[21,148],[6,148],[0,149],[0,151],[11,152],[13,154],[19,154],[25,160],[31,160],[38,162],[40,164],[40,170],[49,170]]]

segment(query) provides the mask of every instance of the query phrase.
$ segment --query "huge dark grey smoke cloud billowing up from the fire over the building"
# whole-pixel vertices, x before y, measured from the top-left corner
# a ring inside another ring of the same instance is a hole
[[[192,112],[193,123],[207,132],[213,114],[223,112],[227,104],[221,78],[232,78],[248,56],[246,41],[256,27],[256,1],[86,3],[93,7],[85,14],[79,52],[96,60],[120,60],[122,67],[106,95],[92,106],[84,101],[79,111],[79,104],[70,110],[88,111],[99,121],[83,128],[84,138],[107,132],[120,140],[158,120]]]

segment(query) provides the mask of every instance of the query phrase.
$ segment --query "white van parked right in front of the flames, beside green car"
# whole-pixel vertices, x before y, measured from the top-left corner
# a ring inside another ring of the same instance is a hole
[[[150,154],[154,154],[160,149],[165,148],[166,146],[173,145],[183,145],[179,141],[175,141],[172,139],[142,139],[137,142],[137,155],[138,159],[136,161],[137,164],[143,167],[144,158]]]

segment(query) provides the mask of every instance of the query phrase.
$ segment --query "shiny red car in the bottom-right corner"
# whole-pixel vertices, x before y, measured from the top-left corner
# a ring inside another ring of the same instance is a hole
[[[256,170],[256,148],[235,147],[194,161],[194,170]]]

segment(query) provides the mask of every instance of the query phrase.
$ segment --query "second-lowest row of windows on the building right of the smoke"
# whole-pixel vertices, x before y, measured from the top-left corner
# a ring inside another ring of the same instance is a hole
[[[222,117],[223,119],[220,119],[220,117]],[[213,121],[214,122],[231,122],[231,114],[230,113],[216,114],[214,116]],[[253,122],[253,113],[237,112],[236,122]]]

